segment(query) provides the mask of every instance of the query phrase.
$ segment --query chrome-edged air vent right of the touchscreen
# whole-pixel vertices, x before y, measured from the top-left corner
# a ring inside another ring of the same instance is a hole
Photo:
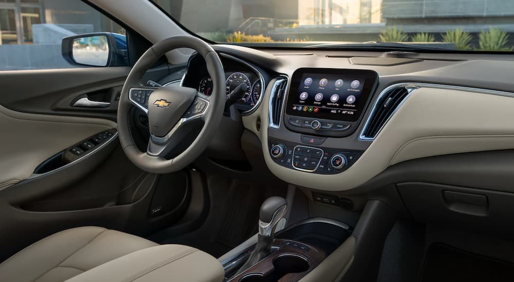
[[[360,138],[367,140],[375,139],[396,109],[401,106],[403,100],[405,100],[414,89],[416,88],[397,87],[383,92],[373,106]]]

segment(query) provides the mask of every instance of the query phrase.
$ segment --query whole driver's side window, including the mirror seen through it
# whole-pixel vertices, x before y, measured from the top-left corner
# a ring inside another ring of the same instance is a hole
[[[0,71],[127,62],[125,29],[80,0],[0,0]]]

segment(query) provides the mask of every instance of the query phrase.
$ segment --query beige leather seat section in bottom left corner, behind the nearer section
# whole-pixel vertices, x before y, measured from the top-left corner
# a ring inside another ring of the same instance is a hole
[[[157,245],[101,227],[67,229],[30,245],[0,264],[0,281],[65,281],[118,257]]]

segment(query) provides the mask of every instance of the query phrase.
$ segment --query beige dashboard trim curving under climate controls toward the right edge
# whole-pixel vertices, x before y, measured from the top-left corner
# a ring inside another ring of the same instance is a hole
[[[339,174],[313,174],[273,162],[267,152],[269,85],[260,109],[243,117],[243,122],[261,139],[266,164],[273,174],[291,184],[326,191],[356,188],[389,166],[410,159],[514,149],[514,94],[412,85],[419,89],[409,95],[359,160]],[[255,128],[258,116],[263,122],[261,131]]]

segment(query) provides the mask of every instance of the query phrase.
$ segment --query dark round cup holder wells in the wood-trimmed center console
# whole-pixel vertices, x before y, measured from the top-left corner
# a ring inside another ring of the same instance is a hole
[[[260,273],[250,273],[240,282],[277,282],[288,273],[300,273],[309,269],[306,258],[295,254],[281,254],[273,259],[273,271],[263,276]]]

